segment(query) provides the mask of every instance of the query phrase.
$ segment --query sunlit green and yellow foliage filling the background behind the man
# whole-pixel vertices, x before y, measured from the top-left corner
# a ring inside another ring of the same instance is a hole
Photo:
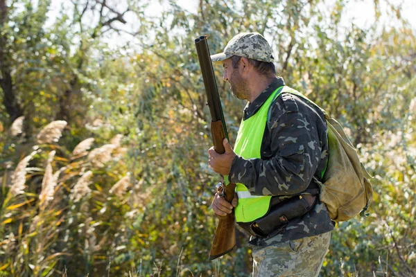
[[[250,276],[242,233],[236,253],[207,261],[218,176],[193,39],[207,34],[214,53],[258,30],[278,74],[343,123],[376,177],[370,217],[337,226],[322,276],[415,275],[416,39],[399,7],[385,15],[397,28],[381,26],[379,1],[376,22],[360,28],[341,25],[342,0],[199,1],[196,14],[160,1],[156,18],[144,15],[150,2],[128,1],[139,24],[114,50],[105,37],[126,33],[125,17],[110,1],[71,1],[50,27],[50,1],[6,2],[0,274]],[[216,73],[233,143],[245,103]],[[10,93],[24,118],[12,120]]]

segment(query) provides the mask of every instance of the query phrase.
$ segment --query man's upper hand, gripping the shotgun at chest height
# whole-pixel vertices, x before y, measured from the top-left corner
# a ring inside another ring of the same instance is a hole
[[[231,170],[232,161],[234,161],[236,153],[232,150],[227,139],[223,139],[223,145],[225,149],[224,154],[218,154],[214,150],[214,147],[209,148],[208,163],[209,166],[220,175],[229,175],[229,170]]]

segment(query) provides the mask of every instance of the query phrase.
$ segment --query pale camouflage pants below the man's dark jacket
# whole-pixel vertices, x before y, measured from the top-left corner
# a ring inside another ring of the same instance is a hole
[[[253,277],[318,276],[330,240],[327,232],[268,247],[253,246]]]

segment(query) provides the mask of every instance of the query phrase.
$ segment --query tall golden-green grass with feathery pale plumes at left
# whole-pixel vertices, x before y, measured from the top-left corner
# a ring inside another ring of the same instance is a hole
[[[12,136],[21,134],[21,120],[13,123]],[[1,276],[110,272],[110,249],[120,247],[111,244],[119,226],[109,217],[98,217],[112,204],[133,197],[128,188],[138,182],[129,172],[119,178],[125,170],[123,136],[96,148],[93,138],[85,139],[70,151],[58,145],[66,125],[62,120],[46,125],[33,143],[10,153],[17,166],[12,169],[8,163],[1,170]],[[135,192],[135,198],[141,197],[138,188]]]

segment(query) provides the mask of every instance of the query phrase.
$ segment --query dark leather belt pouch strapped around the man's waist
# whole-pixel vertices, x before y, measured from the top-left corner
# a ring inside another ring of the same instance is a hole
[[[300,217],[309,211],[309,205],[299,197],[292,197],[272,206],[270,212],[251,224],[251,229],[257,235],[266,237],[269,233],[287,224],[295,217]]]

